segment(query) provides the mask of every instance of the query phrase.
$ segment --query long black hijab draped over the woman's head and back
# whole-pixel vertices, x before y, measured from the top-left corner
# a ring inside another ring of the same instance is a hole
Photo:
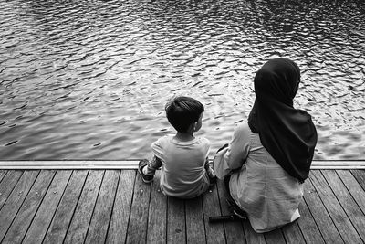
[[[300,81],[297,64],[275,58],[255,75],[255,104],[248,117],[253,133],[277,164],[300,182],[308,178],[317,131],[306,111],[293,107]]]

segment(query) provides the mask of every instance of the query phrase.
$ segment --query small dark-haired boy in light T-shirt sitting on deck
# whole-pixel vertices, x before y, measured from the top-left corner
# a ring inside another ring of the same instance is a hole
[[[138,172],[144,183],[151,183],[155,171],[162,167],[160,187],[164,195],[199,196],[216,180],[208,161],[209,141],[193,136],[202,127],[203,104],[193,98],[176,97],[166,104],[165,111],[177,133],[152,143],[153,159],[141,160]]]

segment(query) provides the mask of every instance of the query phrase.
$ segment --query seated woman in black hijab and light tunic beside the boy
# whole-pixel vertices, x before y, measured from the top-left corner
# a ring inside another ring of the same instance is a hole
[[[300,217],[297,207],[317,132],[310,115],[293,107],[299,82],[295,62],[266,62],[255,75],[255,104],[248,122],[235,128],[231,143],[214,157],[216,175],[225,177],[235,204],[259,233]]]

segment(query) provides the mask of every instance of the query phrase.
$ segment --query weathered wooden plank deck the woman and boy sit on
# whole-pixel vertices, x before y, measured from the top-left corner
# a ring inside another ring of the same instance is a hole
[[[163,196],[135,170],[0,170],[1,243],[364,243],[365,171],[312,170],[301,217],[257,234],[226,215],[218,181],[190,200]]]

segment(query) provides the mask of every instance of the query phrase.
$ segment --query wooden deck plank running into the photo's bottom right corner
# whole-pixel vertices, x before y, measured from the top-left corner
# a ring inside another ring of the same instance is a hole
[[[345,210],[352,225],[356,228],[360,238],[365,242],[365,216],[360,207],[356,204],[355,200],[349,194],[348,189],[342,183],[339,175],[334,170],[321,171],[322,175],[328,182],[328,185],[334,192],[335,196],[339,200],[340,205]]]

